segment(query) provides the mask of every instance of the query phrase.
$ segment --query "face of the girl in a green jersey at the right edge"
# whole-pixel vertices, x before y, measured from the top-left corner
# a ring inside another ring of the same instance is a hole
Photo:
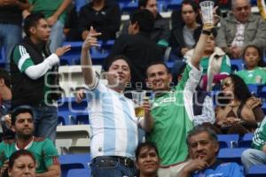
[[[248,47],[245,50],[244,59],[246,63],[246,68],[248,70],[252,70],[258,65],[259,61],[261,60],[260,53],[256,48]]]

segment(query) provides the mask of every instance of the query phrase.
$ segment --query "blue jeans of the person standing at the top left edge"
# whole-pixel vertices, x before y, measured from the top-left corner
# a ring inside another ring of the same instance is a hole
[[[4,48],[5,68],[9,70],[13,47],[21,41],[22,29],[17,25],[0,23],[0,51]],[[1,53],[1,52],[0,52]]]

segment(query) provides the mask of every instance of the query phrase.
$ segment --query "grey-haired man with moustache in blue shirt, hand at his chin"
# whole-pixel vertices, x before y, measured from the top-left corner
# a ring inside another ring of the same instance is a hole
[[[219,142],[215,132],[207,127],[193,127],[187,135],[190,158],[181,171],[182,177],[227,176],[244,177],[237,163],[223,163],[216,158]]]

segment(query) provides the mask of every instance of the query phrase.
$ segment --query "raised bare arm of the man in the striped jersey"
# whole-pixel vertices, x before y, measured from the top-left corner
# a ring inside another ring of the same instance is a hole
[[[90,47],[98,47],[97,36],[101,33],[93,33],[93,27],[90,27],[90,33],[82,44],[82,74],[85,81],[85,84],[90,86],[94,85],[95,74],[92,69],[92,62],[90,58]]]

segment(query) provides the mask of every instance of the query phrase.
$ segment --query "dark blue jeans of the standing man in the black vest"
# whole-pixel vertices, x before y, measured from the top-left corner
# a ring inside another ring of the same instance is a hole
[[[58,109],[56,106],[33,107],[35,136],[50,138],[55,142],[58,126]]]

